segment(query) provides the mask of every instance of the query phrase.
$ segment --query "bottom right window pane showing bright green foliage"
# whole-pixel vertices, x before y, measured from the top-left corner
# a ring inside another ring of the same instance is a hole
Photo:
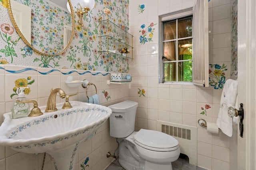
[[[178,62],[178,81],[192,82],[192,61]]]

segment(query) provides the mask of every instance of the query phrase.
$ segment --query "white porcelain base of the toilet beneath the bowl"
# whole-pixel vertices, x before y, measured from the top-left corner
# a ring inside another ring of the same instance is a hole
[[[130,151],[131,150],[131,151]],[[143,160],[134,152],[134,145],[121,139],[119,146],[119,164],[126,170],[172,170],[172,163],[154,163]]]

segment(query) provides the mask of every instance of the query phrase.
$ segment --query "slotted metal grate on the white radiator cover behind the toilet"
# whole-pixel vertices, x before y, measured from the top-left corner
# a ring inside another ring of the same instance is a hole
[[[162,132],[171,136],[180,137],[183,139],[191,139],[190,129],[184,129],[175,126],[162,125]]]

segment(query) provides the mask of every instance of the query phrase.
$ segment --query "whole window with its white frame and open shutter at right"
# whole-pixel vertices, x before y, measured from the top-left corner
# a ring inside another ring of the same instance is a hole
[[[165,14],[160,21],[159,82],[208,87],[208,0],[196,0],[192,8]]]

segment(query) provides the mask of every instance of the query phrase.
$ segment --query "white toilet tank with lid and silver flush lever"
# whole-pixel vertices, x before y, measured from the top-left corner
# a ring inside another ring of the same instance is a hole
[[[135,126],[137,102],[130,100],[108,106],[112,109],[110,115],[110,136],[116,138],[128,137]]]

